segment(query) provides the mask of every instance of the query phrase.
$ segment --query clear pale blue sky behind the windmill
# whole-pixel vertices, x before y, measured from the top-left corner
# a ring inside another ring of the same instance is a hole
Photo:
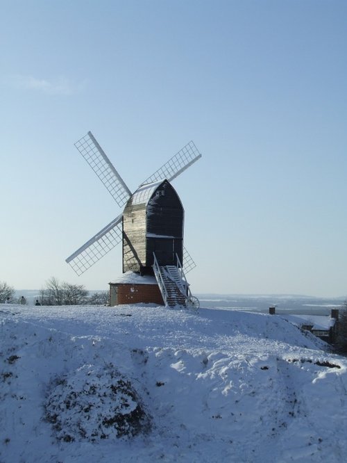
[[[347,2],[0,1],[0,281],[107,289],[121,246],[65,263],[120,213],[74,147],[134,190],[174,187],[193,293],[347,293]]]

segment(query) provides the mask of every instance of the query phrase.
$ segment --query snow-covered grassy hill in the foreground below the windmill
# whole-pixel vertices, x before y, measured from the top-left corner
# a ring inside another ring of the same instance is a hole
[[[0,304],[0,322],[0,463],[347,455],[347,359],[278,316]]]

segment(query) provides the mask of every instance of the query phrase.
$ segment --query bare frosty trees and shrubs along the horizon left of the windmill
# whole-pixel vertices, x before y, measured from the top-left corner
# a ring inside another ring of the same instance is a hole
[[[60,282],[51,277],[46,285],[40,289],[37,296],[41,305],[105,305],[108,304],[108,291],[99,291],[90,294],[83,284],[70,284]],[[15,289],[6,282],[0,282],[0,303],[19,303],[15,298]]]

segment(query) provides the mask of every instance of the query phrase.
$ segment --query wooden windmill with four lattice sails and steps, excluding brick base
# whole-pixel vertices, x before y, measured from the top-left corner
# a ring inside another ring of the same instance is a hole
[[[198,307],[198,300],[192,295],[185,277],[195,263],[183,247],[184,209],[170,183],[201,158],[194,143],[190,141],[180,149],[134,193],[126,186],[92,132],[78,140],[75,146],[118,206],[125,207],[66,262],[77,275],[82,275],[122,242],[123,273],[133,272],[140,277],[136,290],[139,298],[145,288],[148,290],[144,279],[153,275],[165,305]],[[134,291],[133,286],[131,291]]]

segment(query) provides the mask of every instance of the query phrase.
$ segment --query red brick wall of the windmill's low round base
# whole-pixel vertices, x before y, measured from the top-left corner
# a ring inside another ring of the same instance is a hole
[[[110,283],[110,305],[119,304],[164,305],[158,284]]]

